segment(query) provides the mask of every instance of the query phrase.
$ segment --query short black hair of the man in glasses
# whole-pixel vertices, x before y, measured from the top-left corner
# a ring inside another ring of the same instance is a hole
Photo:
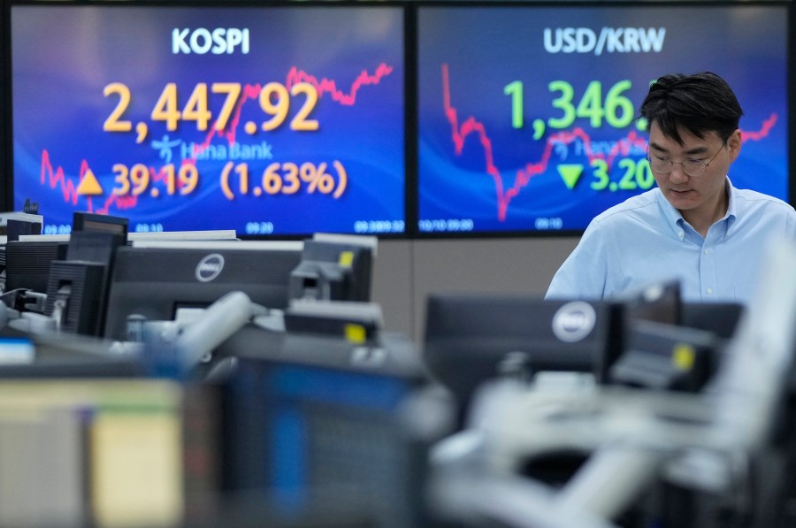
[[[656,123],[663,135],[681,145],[678,127],[699,138],[715,131],[726,142],[744,115],[730,85],[711,72],[672,73],[655,80],[640,113],[647,119],[647,131]]]

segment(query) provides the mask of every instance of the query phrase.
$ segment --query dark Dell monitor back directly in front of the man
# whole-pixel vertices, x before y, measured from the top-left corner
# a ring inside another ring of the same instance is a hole
[[[423,358],[466,409],[478,386],[500,376],[576,371],[601,379],[621,347],[621,321],[612,302],[436,294],[427,302]]]

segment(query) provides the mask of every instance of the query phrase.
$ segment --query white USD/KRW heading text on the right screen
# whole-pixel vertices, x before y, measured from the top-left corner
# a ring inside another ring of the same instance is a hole
[[[547,53],[660,53],[665,38],[665,27],[603,27],[599,34],[589,27],[544,31]]]

